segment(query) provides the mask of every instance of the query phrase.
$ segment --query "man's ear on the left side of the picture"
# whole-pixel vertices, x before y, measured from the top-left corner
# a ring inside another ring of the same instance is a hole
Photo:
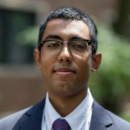
[[[38,69],[41,70],[41,58],[40,58],[40,52],[38,49],[34,50],[34,58],[35,58]]]

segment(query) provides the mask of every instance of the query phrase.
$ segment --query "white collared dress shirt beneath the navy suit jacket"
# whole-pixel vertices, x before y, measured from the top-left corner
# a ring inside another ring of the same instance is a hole
[[[69,115],[61,117],[49,101],[47,93],[41,130],[51,130],[54,121],[58,118],[65,119],[72,130],[89,130],[92,116],[92,104],[93,98],[88,89],[88,93],[84,100]]]

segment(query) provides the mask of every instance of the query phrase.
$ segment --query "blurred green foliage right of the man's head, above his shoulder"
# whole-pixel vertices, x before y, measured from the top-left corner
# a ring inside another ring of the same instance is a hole
[[[102,25],[98,30],[98,52],[103,57],[99,70],[90,78],[90,88],[94,97],[118,111],[122,97],[130,94],[130,44],[110,26]]]

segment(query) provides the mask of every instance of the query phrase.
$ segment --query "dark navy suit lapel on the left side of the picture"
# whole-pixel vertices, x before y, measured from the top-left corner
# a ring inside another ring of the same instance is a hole
[[[34,105],[21,117],[13,130],[41,130],[45,99]]]

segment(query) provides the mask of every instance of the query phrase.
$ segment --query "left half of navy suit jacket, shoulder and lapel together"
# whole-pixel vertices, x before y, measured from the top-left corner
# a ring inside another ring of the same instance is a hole
[[[0,120],[0,130],[41,130],[45,99]]]

